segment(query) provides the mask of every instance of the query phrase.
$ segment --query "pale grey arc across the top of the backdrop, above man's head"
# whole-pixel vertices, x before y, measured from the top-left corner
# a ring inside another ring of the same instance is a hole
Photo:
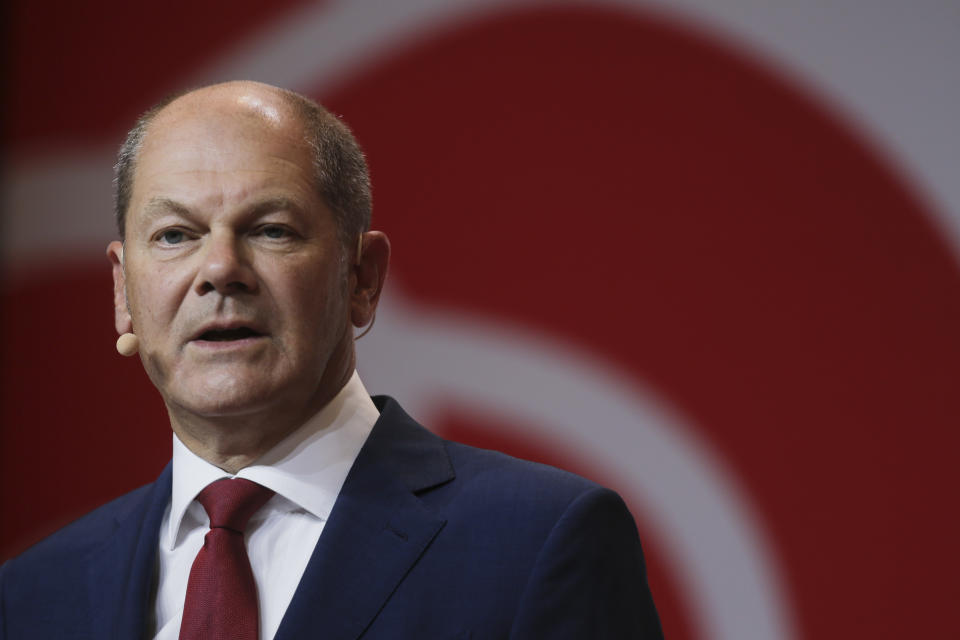
[[[914,0],[350,0],[307,6],[228,52],[197,83],[252,78],[329,87],[404,42],[529,7],[651,11],[751,51],[846,116],[929,199],[960,261],[960,3]]]

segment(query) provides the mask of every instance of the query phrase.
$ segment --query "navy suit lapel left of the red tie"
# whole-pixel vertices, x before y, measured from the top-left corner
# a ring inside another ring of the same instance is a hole
[[[160,522],[170,501],[170,486],[168,464],[156,482],[117,514],[113,534],[91,554],[88,589],[93,637],[144,636]]]

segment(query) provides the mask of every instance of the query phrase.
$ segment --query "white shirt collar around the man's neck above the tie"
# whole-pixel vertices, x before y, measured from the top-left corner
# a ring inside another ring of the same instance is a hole
[[[235,477],[257,482],[317,518],[333,503],[373,424],[380,417],[356,371],[343,389],[296,431]],[[172,550],[184,514],[204,487],[231,475],[173,436],[173,490],[164,546]]]

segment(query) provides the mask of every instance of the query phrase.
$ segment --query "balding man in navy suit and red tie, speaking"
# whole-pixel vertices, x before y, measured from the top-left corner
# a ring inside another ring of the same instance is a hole
[[[121,149],[117,215],[118,348],[173,460],[4,565],[0,637],[661,637],[616,494],[366,394],[390,245],[336,118],[250,82],[177,97]]]

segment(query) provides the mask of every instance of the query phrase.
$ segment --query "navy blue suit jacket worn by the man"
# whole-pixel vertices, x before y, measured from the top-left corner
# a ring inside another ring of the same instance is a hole
[[[389,398],[277,632],[661,638],[636,527],[572,474],[442,440]],[[169,465],[0,569],[0,638],[140,638]]]

